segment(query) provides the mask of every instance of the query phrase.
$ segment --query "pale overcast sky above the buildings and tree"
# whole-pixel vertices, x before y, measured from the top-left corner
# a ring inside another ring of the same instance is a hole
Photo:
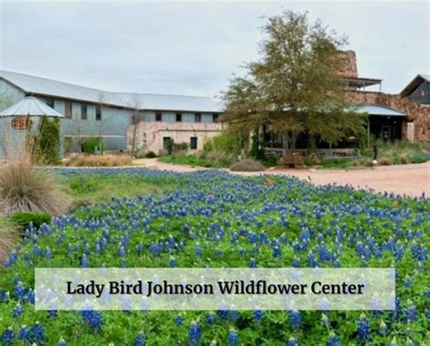
[[[308,11],[348,37],[362,77],[430,74],[429,3],[0,0],[0,67],[108,91],[216,96],[258,58],[263,16]]]

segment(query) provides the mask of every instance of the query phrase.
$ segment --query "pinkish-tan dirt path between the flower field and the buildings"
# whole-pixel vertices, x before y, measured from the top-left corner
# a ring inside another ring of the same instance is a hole
[[[144,164],[146,168],[191,172],[205,168],[192,168],[185,165],[172,165],[159,162],[157,159],[137,159],[136,164]],[[233,172],[231,172],[233,173]],[[373,189],[378,192],[394,192],[399,195],[419,197],[423,192],[430,197],[430,161],[422,164],[382,166],[376,168],[349,170],[315,170],[277,168],[264,172],[234,172],[244,176],[259,174],[276,174],[310,179],[314,184],[351,185],[357,188]]]

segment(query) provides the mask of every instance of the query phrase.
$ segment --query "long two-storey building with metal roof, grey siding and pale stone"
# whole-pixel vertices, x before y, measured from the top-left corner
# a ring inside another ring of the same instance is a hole
[[[166,143],[201,149],[220,133],[222,106],[209,97],[103,91],[23,73],[0,71],[0,111],[34,96],[64,115],[65,152],[80,151],[85,139],[102,139],[103,149],[126,150],[137,124],[136,147],[159,154]]]

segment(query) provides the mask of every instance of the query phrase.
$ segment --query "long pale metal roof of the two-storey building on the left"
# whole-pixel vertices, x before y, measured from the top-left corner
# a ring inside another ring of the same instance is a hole
[[[14,84],[27,94],[61,99],[103,103],[121,108],[133,108],[134,96],[141,100],[140,109],[147,111],[222,112],[222,104],[209,97],[151,93],[112,92],[54,81],[18,72],[0,71],[0,78]]]

